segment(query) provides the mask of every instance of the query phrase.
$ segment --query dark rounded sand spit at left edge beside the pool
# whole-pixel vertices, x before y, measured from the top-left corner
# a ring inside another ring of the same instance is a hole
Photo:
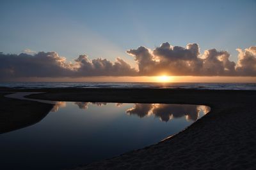
[[[8,94],[10,93],[0,93],[0,134],[36,124],[53,106],[4,97]]]

